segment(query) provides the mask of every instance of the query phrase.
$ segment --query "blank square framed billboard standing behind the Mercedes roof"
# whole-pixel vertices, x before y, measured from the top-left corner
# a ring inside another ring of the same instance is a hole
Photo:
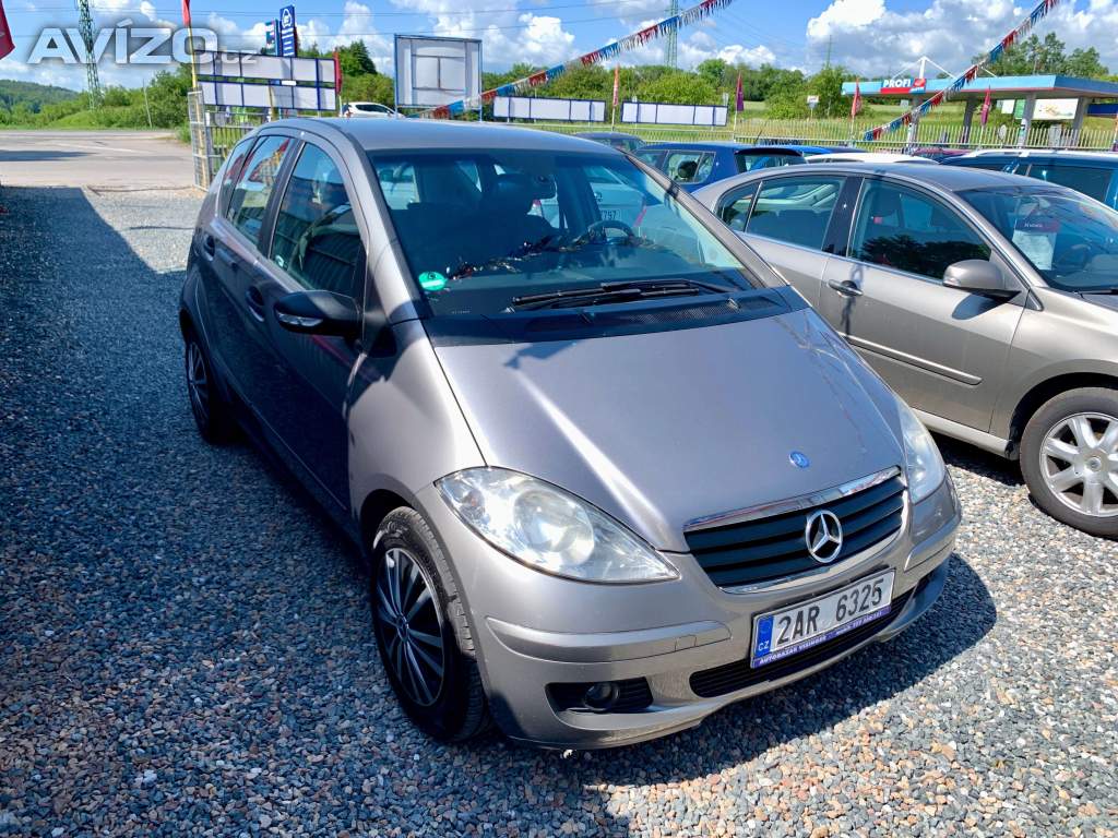
[[[397,108],[438,107],[481,95],[480,40],[396,36]]]

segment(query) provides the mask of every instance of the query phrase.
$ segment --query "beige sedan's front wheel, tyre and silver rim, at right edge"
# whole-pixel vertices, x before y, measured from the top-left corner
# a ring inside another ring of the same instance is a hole
[[[1069,390],[1042,404],[1021,438],[1021,473],[1057,521],[1118,539],[1118,391]]]

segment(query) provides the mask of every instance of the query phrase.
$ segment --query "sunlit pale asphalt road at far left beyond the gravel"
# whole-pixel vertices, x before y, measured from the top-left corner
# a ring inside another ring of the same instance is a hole
[[[190,146],[168,132],[0,131],[0,184],[186,189]]]

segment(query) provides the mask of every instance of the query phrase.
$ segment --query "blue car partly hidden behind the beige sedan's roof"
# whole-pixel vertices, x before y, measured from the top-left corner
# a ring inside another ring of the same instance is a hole
[[[638,160],[665,172],[689,192],[756,169],[803,163],[813,154],[859,149],[825,145],[749,145],[746,143],[650,143],[634,152]]]

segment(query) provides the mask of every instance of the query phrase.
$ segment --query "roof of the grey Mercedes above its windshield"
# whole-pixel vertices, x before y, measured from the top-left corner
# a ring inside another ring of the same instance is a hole
[[[349,136],[366,151],[416,149],[531,149],[536,151],[616,154],[616,149],[568,134],[521,128],[498,123],[447,120],[292,118],[268,123],[322,134],[323,128]]]

